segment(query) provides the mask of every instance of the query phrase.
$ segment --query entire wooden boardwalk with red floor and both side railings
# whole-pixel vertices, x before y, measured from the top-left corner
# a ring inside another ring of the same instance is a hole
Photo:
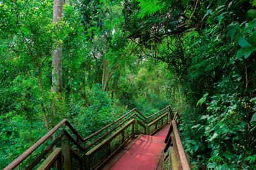
[[[42,169],[65,167],[102,170],[154,170],[163,169],[164,166],[167,169],[189,170],[177,128],[177,117],[178,113],[173,115],[170,106],[148,117],[134,108],[86,138],[67,119],[63,119],[4,170],[39,166]],[[48,146],[44,146],[57,131],[60,134]],[[154,136],[148,135],[154,132],[157,132]],[[22,164],[40,146],[44,146],[44,150],[33,156],[26,165]]]

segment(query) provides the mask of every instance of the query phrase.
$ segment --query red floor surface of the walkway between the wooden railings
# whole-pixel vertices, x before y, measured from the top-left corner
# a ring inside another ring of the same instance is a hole
[[[143,135],[111,167],[112,170],[155,170],[164,149],[169,125],[154,136]]]

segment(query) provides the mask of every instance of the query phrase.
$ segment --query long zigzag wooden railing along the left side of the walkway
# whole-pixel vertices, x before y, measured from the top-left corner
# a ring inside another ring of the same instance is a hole
[[[4,170],[99,169],[131,137],[154,134],[173,118],[170,106],[149,117],[134,108],[86,138],[64,119]]]

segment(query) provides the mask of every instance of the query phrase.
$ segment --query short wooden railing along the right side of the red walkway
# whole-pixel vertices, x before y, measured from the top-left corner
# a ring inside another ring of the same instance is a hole
[[[179,130],[177,127],[177,117],[178,113],[175,113],[172,123],[170,124],[170,129],[168,131],[166,139],[164,140],[164,143],[166,143],[164,152],[167,152],[166,156],[164,157],[164,170],[190,170],[188,159],[186,157],[186,153],[184,152]]]

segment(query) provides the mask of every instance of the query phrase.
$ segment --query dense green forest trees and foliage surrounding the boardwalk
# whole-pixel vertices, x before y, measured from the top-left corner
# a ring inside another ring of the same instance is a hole
[[[193,169],[256,169],[255,8],[0,0],[0,169],[63,118],[88,136],[168,104]]]

